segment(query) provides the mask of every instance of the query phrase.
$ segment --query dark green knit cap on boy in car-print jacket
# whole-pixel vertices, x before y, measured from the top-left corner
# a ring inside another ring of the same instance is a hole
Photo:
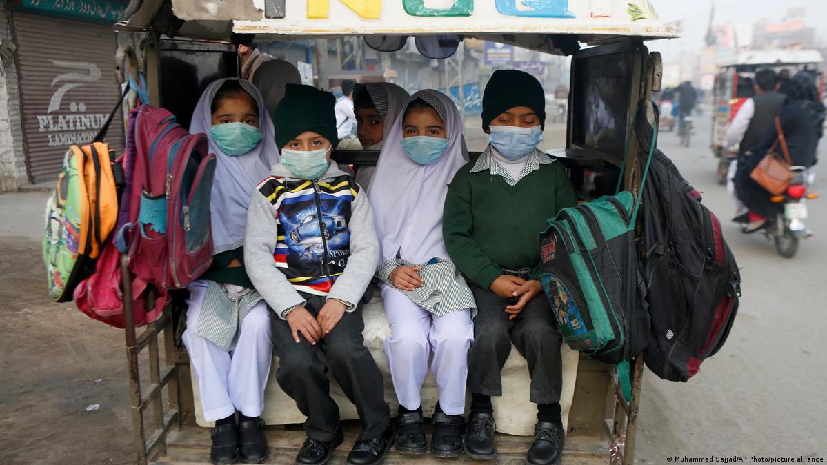
[[[275,143],[279,150],[305,131],[321,134],[335,149],[339,143],[335,105],[336,98],[332,93],[310,85],[285,85],[284,98],[273,112]]]

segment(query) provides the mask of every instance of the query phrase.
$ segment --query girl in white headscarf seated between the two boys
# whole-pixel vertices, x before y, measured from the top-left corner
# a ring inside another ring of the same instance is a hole
[[[467,161],[456,105],[443,93],[422,90],[388,132],[370,185],[381,246],[376,276],[392,333],[385,352],[399,399],[395,442],[403,453],[428,448],[419,392],[431,352],[440,395],[431,451],[440,457],[461,451],[476,305],[442,241],[442,205],[448,183]]]

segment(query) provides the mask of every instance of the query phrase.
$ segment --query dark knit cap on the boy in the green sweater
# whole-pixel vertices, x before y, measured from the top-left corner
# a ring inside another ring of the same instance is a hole
[[[488,132],[495,117],[514,107],[533,109],[540,118],[540,128],[546,127],[546,94],[540,81],[523,71],[496,70],[482,93],[483,131]]]

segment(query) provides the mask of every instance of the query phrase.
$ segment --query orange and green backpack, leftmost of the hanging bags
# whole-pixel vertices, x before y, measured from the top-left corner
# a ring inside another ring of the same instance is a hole
[[[69,147],[55,194],[46,202],[43,260],[52,299],[73,299],[74,288],[92,274],[116,221],[117,187],[109,146],[96,141]]]

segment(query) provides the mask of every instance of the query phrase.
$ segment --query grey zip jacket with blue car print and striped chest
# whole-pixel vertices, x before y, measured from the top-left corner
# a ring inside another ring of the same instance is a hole
[[[366,192],[335,161],[317,181],[281,163],[270,174],[247,212],[244,265],[256,290],[281,319],[306,304],[299,290],[353,311],[379,261]]]

